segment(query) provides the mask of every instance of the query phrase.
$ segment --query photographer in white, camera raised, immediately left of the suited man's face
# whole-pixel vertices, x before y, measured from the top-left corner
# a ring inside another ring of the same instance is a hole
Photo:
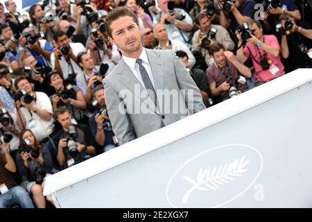
[[[116,44],[110,44],[105,41],[104,34],[99,28],[92,28],[91,41],[89,42],[88,53],[91,55],[95,65],[107,64],[108,70],[105,75],[116,67],[121,60],[121,55]],[[108,43],[108,44],[107,44]]]

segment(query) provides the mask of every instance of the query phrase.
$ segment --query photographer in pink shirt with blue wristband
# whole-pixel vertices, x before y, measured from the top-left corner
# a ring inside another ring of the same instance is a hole
[[[249,32],[250,38],[247,40],[245,47],[240,47],[236,55],[241,62],[252,58],[252,64],[256,72],[255,86],[259,86],[274,78],[285,74],[284,65],[281,63],[279,56],[280,46],[275,35],[263,35],[261,24],[258,21],[250,20]],[[238,31],[236,37],[239,39],[239,45],[243,40]]]

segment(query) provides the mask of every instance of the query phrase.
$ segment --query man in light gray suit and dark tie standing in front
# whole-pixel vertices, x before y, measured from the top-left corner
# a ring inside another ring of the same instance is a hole
[[[119,144],[205,109],[198,87],[172,51],[144,49],[137,16],[131,10],[114,8],[105,22],[110,42],[123,54],[103,80]]]

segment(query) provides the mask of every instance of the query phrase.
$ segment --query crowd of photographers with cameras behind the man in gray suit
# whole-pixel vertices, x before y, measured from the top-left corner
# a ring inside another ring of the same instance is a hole
[[[146,48],[175,51],[207,107],[312,67],[310,0],[0,3],[0,207],[53,207],[46,176],[119,146],[102,85],[121,60],[105,33],[116,6]]]

